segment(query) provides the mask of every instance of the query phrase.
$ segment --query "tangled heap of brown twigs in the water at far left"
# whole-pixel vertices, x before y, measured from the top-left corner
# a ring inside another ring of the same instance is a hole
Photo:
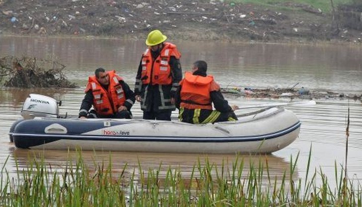
[[[0,58],[0,86],[19,88],[75,88],[63,74],[66,66],[32,57]]]

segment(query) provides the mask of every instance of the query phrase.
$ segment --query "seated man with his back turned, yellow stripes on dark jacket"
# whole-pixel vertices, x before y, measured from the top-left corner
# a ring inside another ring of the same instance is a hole
[[[207,64],[199,60],[193,63],[192,73],[186,72],[176,93],[179,119],[187,123],[215,123],[238,120],[234,110],[221,94],[213,76],[207,76]],[[212,110],[212,103],[216,110]]]

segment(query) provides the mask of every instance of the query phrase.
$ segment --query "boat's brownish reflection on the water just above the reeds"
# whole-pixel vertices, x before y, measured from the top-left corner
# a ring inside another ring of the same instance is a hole
[[[261,179],[264,181],[281,181],[284,173],[285,179],[289,180],[289,162],[283,158],[274,155],[205,155],[205,154],[165,154],[165,153],[127,153],[127,152],[102,152],[102,151],[57,151],[57,150],[25,150],[9,148],[10,162],[16,160],[19,168],[26,168],[27,164],[33,160],[44,159],[46,165],[51,167],[52,171],[64,172],[65,168],[69,168],[66,164],[73,163],[82,155],[83,161],[88,166],[90,172],[95,171],[97,166],[112,166],[112,174],[118,177],[121,174],[126,178],[135,175],[135,180],[140,179],[140,174],[147,176],[149,170],[157,170],[158,178],[162,181],[166,178],[169,170],[180,170],[182,178],[187,183],[191,178],[200,175],[197,166],[212,167],[211,176],[217,178],[222,171],[225,175],[241,170],[242,178],[249,176],[250,168],[260,172]],[[124,170],[124,171],[123,171]],[[11,174],[16,174],[13,169]],[[297,169],[294,171],[293,178],[297,178]],[[265,183],[266,185],[268,182]]]

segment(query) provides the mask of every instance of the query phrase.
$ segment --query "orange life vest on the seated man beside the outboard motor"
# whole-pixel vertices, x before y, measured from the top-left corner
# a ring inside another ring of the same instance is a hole
[[[93,107],[98,114],[111,115],[118,112],[118,107],[126,101],[123,88],[119,81],[123,79],[115,74],[115,71],[108,71],[109,85],[106,91],[97,81],[95,76],[90,76],[86,93],[92,90]]]

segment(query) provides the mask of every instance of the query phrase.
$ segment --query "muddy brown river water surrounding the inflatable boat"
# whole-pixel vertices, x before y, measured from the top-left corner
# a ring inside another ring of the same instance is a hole
[[[190,70],[195,60],[205,60],[208,72],[215,76],[221,87],[290,88],[307,87],[310,90],[333,91],[345,94],[362,94],[362,47],[330,45],[287,45],[287,44],[242,44],[221,42],[184,42],[172,40],[182,53],[183,71]],[[84,97],[88,76],[97,67],[116,70],[125,81],[134,87],[134,80],[144,40],[114,40],[93,38],[47,38],[47,37],[0,37],[1,56],[32,56],[56,58],[66,65],[65,74],[80,88],[76,89],[0,89],[0,165],[14,175],[15,159],[20,166],[29,157],[43,156],[46,162],[64,167],[67,151],[16,149],[9,142],[10,125],[20,117],[23,101],[30,93],[51,96],[62,100],[61,114],[78,114]],[[288,99],[250,99],[225,95],[237,105],[283,103]],[[303,179],[306,175],[308,156],[311,149],[311,169],[322,169],[333,186],[335,162],[337,167],[345,164],[346,127],[350,108],[350,136],[348,145],[348,174],[351,179],[362,178],[362,103],[360,100],[319,99],[316,105],[289,106],[301,120],[299,137],[286,148],[266,156],[239,155],[246,160],[268,160],[270,172],[281,179],[290,166],[290,158],[299,153],[294,176]],[[241,112],[241,111],[239,111]],[[133,108],[135,116],[141,116],[139,104]],[[173,113],[176,117],[176,112]],[[71,152],[75,155],[75,152]],[[180,167],[187,176],[197,159],[208,157],[211,163],[221,165],[236,155],[165,154],[112,152],[113,167],[128,166],[158,169],[164,166]],[[90,164],[93,160],[108,159],[108,152],[83,152]],[[7,162],[5,160],[8,158]],[[239,159],[240,159],[239,158]],[[247,165],[246,165],[247,166]]]

